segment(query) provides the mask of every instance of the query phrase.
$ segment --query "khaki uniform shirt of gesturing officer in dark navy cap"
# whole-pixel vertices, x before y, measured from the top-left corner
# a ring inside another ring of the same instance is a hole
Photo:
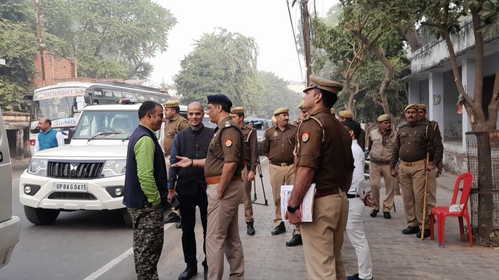
[[[234,176],[241,176],[242,168],[245,168],[245,139],[242,138],[240,131],[231,117],[222,119],[215,128],[206,156],[206,178],[221,176],[226,162],[237,162]],[[220,134],[222,134],[221,142]]]

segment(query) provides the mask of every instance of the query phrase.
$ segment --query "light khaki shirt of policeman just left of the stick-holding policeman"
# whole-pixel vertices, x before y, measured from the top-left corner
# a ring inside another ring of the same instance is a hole
[[[371,150],[371,163],[388,166],[391,162],[393,148],[395,147],[397,133],[381,134],[379,129],[369,133],[369,149]]]

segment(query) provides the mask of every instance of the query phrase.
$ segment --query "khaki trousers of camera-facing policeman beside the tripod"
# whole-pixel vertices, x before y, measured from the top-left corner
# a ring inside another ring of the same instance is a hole
[[[294,185],[293,166],[274,166],[269,163],[270,185],[272,185],[272,195],[274,195],[274,227],[282,222],[281,215],[281,185]],[[300,225],[294,226],[294,234],[302,235]]]

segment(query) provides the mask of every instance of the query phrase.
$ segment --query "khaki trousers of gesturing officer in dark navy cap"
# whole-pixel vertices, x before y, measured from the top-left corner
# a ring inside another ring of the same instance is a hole
[[[221,280],[224,273],[224,254],[230,266],[230,280],[245,279],[245,256],[237,225],[239,203],[244,190],[241,181],[230,182],[223,197],[218,199],[218,184],[208,185],[206,258],[208,279]]]

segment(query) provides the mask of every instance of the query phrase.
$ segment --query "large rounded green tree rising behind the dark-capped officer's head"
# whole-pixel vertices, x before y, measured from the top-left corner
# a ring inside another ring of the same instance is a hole
[[[182,102],[206,104],[208,95],[227,95],[234,106],[262,114],[263,84],[257,70],[258,45],[254,38],[217,28],[196,41],[180,62],[175,84]]]

